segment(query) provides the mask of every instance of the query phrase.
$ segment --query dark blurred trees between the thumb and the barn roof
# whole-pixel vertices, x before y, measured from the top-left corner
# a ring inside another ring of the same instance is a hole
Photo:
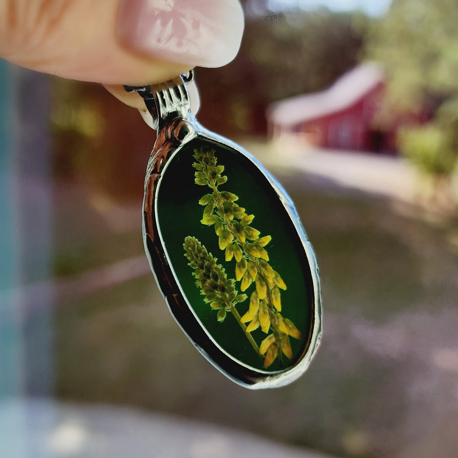
[[[265,132],[270,103],[322,90],[358,63],[367,22],[327,9],[247,16],[237,59],[198,69],[199,118],[227,135]]]

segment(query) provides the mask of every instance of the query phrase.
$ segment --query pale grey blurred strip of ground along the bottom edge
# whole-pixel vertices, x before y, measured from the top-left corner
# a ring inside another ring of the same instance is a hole
[[[326,458],[223,426],[108,405],[11,399],[0,402],[0,425],[8,458]]]

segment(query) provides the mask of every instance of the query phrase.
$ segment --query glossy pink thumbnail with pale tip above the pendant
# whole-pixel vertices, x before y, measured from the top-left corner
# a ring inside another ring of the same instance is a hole
[[[220,67],[237,55],[243,12],[238,0],[121,0],[116,33],[142,54]]]

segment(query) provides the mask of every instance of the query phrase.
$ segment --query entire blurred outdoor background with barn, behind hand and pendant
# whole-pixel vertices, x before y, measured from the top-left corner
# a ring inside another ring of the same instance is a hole
[[[245,0],[199,121],[293,197],[324,334],[291,386],[226,380],[141,238],[155,132],[96,84],[0,61],[0,455],[453,457],[458,4]],[[2,451],[3,450],[3,451]]]

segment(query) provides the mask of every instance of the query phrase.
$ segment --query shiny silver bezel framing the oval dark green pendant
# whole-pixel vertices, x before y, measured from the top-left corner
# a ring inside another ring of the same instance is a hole
[[[173,123],[164,124],[158,132],[158,137],[148,163],[145,180],[143,217],[145,251],[159,290],[167,303],[170,313],[192,344],[226,377],[250,389],[274,388],[287,385],[298,379],[307,369],[318,347],[322,333],[321,288],[317,260],[294,204],[282,186],[264,166],[239,145],[203,128],[189,113],[187,113],[186,119],[180,116],[174,122],[175,125]],[[255,369],[225,352],[198,320],[191,304],[189,304],[181,289],[173,266],[169,262],[168,253],[164,246],[160,226],[157,221],[157,199],[161,179],[163,174],[166,173],[167,164],[170,160],[189,141],[197,137],[210,140],[223,147],[229,146],[250,160],[275,190],[302,242],[313,284],[313,323],[306,351],[294,366],[290,366],[287,369],[275,372]],[[197,332],[196,328],[201,328],[201,332]]]

